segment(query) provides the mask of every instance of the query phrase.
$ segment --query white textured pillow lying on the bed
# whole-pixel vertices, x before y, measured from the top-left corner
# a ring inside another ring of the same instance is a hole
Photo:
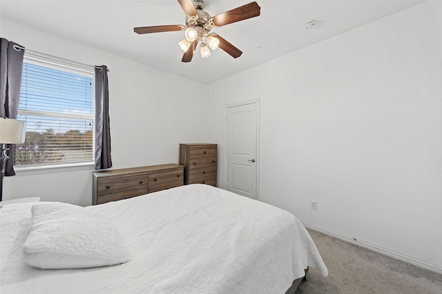
[[[73,204],[32,206],[32,224],[23,244],[27,264],[40,269],[80,269],[130,260],[112,220]]]

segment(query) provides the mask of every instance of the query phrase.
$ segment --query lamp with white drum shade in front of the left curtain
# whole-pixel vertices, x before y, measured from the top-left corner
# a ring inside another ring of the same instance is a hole
[[[23,143],[26,138],[26,121],[12,118],[0,118],[0,144],[1,144],[1,177],[0,177],[0,201],[3,198],[3,176],[5,165],[9,156],[6,155],[6,144]]]

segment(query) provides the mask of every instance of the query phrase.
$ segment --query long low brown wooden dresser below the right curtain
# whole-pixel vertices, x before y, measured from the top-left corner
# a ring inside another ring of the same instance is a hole
[[[183,165],[151,165],[93,171],[92,204],[102,204],[182,186]]]

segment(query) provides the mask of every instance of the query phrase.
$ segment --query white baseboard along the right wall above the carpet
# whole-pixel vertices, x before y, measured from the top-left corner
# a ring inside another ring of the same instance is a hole
[[[352,244],[356,244],[358,246],[370,249],[372,251],[376,251],[378,253],[385,254],[387,256],[390,256],[391,258],[395,258],[396,260],[408,262],[410,264],[414,264],[415,266],[419,266],[423,269],[427,269],[429,271],[434,271],[435,273],[442,273],[442,266],[438,266],[436,264],[431,264],[430,262],[424,262],[422,260],[417,260],[416,258],[412,258],[411,256],[401,254],[398,252],[394,252],[394,251],[391,251],[390,249],[385,249],[381,246],[377,246],[375,244],[371,244],[371,243],[365,242],[363,240],[357,240],[356,238],[352,238],[348,235],[343,235],[343,234],[338,233],[336,231],[325,229],[323,227],[318,227],[314,224],[309,224],[308,222],[302,222],[302,224],[304,224],[304,226],[309,229],[313,229],[313,230],[318,231],[320,233],[325,233],[325,235],[331,235],[332,237],[336,237],[340,240],[347,241]]]

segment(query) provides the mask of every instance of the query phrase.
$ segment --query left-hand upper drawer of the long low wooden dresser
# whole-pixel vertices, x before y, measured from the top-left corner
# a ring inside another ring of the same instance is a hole
[[[148,176],[122,176],[118,178],[103,178],[97,183],[97,196],[118,193],[121,191],[137,190],[135,193],[147,193]]]

